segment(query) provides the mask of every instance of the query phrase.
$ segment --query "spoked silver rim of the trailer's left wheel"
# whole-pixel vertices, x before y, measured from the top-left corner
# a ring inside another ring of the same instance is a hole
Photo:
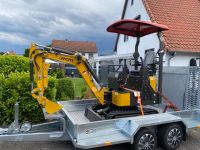
[[[153,150],[155,148],[155,138],[152,134],[144,134],[139,140],[139,150]]]

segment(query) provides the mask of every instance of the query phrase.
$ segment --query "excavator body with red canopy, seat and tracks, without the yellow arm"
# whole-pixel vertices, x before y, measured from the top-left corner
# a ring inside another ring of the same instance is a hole
[[[130,60],[121,59],[119,64],[112,65],[114,69],[111,69],[112,72],[108,74],[109,90],[104,94],[106,105],[97,104],[92,108],[87,108],[85,114],[89,120],[158,113],[143,105],[161,103],[161,97],[158,94],[162,92],[164,54],[161,32],[165,30],[168,30],[165,25],[129,19],[117,21],[107,28],[108,32],[135,37],[135,50]],[[147,50],[145,57],[142,58],[139,54],[140,39],[152,33],[157,33],[160,48],[156,53]],[[157,68],[159,68],[158,83]]]

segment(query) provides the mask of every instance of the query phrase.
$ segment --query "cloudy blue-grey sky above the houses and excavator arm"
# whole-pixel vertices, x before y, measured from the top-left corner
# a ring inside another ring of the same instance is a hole
[[[34,42],[94,41],[111,53],[116,34],[106,28],[120,19],[124,0],[1,0],[0,51],[23,54]]]

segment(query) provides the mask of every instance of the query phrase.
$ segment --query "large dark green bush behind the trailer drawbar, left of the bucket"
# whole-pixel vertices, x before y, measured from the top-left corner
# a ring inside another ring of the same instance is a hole
[[[16,102],[20,103],[20,121],[44,120],[38,102],[31,96],[29,73],[11,73],[7,78],[0,75],[0,83],[0,124],[10,124],[13,121]]]

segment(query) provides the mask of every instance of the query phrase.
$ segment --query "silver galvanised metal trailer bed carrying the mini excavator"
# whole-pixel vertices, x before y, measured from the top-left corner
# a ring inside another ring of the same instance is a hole
[[[77,148],[94,148],[106,145],[133,143],[140,128],[182,122],[186,128],[200,125],[200,110],[159,113],[102,121],[89,121],[84,113],[94,100],[60,101],[67,120],[67,133]],[[158,108],[155,108],[158,109]]]

